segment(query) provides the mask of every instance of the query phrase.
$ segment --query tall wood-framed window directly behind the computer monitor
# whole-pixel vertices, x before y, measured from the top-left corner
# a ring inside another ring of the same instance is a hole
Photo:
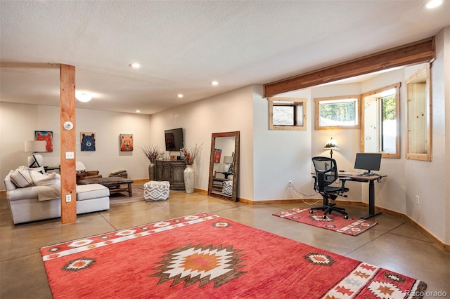
[[[379,152],[383,158],[400,157],[400,83],[362,95],[361,152]]]

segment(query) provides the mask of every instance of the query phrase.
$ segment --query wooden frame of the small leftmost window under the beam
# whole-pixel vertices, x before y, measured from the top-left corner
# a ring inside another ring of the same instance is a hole
[[[275,97],[268,98],[269,101],[269,130],[299,130],[304,131],[307,129],[307,99],[306,98],[284,98],[284,97]],[[288,125],[276,125],[274,124],[274,106],[276,102],[293,102],[293,105],[283,104],[283,106],[293,106],[294,107],[294,119],[293,126]],[[302,107],[302,125],[296,124],[297,119],[299,119],[297,107]]]

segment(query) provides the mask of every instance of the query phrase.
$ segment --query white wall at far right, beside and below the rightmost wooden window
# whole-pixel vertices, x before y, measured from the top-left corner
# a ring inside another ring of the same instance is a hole
[[[449,244],[450,27],[437,34],[435,43],[436,60],[431,68],[432,161],[406,160],[406,215]],[[416,68],[406,71],[409,76]],[[416,195],[420,204],[416,204]]]

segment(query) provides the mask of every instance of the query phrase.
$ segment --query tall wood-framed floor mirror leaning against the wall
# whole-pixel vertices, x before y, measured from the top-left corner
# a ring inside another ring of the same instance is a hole
[[[208,195],[237,201],[239,131],[212,133]]]

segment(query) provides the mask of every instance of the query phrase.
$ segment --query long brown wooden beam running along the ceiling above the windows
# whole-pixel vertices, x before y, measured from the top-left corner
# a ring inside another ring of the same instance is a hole
[[[297,91],[311,86],[390,69],[392,67],[430,62],[434,59],[435,38],[433,36],[411,44],[391,48],[355,60],[349,60],[338,65],[264,84],[264,98],[271,98],[280,93]]]

